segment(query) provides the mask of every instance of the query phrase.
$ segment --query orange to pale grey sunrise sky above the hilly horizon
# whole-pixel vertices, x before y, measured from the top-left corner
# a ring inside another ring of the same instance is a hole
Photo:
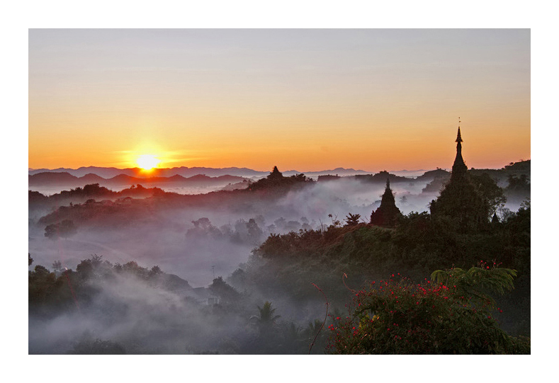
[[[529,29],[30,29],[28,166],[531,158]]]

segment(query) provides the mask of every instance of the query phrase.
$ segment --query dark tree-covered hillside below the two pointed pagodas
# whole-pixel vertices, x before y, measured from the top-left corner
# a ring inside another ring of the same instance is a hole
[[[519,210],[499,227],[477,233],[455,231],[450,219],[427,212],[401,217],[394,229],[371,224],[272,234],[254,251],[271,261],[244,275],[266,291],[283,290],[296,299],[308,295],[309,280],[329,288],[329,297],[344,299],[343,273],[354,285],[400,270],[424,278],[436,268],[466,268],[481,258],[502,268],[530,271],[529,211]]]

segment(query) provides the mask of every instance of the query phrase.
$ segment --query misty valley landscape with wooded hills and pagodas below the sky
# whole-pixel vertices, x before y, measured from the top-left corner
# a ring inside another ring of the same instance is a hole
[[[530,353],[530,161],[462,165],[30,170],[29,353]]]

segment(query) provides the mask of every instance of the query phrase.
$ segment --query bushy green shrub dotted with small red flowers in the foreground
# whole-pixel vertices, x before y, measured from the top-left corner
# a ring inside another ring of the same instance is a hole
[[[481,277],[476,274],[481,280],[507,269],[485,270]],[[453,283],[453,269],[441,273],[450,276],[448,284],[427,278],[414,284],[393,274],[356,292],[349,314],[335,317],[329,326],[327,350],[344,354],[530,353],[527,343],[499,328],[491,315],[490,299],[464,295],[461,282]]]

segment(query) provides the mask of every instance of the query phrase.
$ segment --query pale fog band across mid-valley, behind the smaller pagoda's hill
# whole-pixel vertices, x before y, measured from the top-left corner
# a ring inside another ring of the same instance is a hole
[[[421,193],[425,185],[391,185],[396,204],[403,214],[427,210],[436,195]],[[368,222],[372,210],[380,204],[384,190],[383,184],[325,181],[290,192],[273,205],[254,201],[252,206],[246,207],[247,212],[239,206],[226,211],[184,209],[157,212],[154,219],[128,222],[118,229],[78,227],[77,234],[58,241],[47,239],[44,227],[30,225],[29,252],[36,264],[47,267],[60,261],[64,267],[75,269],[79,261],[91,254],[102,255],[112,263],[136,261],[146,267],[159,265],[162,270],[179,275],[193,286],[206,286],[214,275],[225,277],[239,263],[246,262],[252,248],[270,233],[317,229],[321,224],[332,224],[332,219],[343,223],[350,212],[360,214],[361,220]],[[220,235],[196,235],[191,230],[195,228],[193,221],[204,217],[220,231]],[[110,221],[111,217],[104,219]],[[255,219],[261,231],[256,239],[243,238],[249,219]]]

